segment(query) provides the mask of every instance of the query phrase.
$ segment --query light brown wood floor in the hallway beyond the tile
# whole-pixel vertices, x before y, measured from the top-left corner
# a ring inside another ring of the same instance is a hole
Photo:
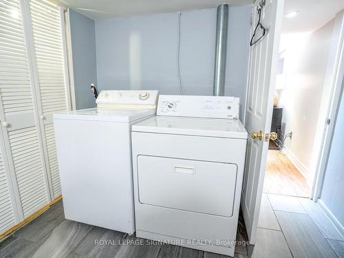
[[[268,151],[264,192],[297,197],[310,197],[311,188],[303,175],[280,151]]]

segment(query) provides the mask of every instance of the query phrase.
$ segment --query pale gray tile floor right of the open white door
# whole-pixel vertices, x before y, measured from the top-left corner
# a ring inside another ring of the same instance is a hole
[[[344,257],[344,237],[312,200],[263,193],[259,214],[249,257]]]

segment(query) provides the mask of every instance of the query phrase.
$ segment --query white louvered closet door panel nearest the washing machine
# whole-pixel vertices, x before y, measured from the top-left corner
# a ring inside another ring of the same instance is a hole
[[[30,0],[34,52],[39,75],[39,108],[46,142],[47,170],[51,176],[54,197],[61,195],[52,114],[67,111],[65,67],[61,18],[58,8]]]

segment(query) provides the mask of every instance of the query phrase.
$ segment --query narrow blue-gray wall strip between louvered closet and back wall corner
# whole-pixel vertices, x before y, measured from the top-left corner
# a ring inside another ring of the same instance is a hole
[[[95,23],[69,9],[76,109],[95,107],[89,85],[97,82]]]

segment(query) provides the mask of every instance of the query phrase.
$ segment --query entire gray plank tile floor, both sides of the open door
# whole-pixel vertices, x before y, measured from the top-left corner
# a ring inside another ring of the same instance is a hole
[[[180,246],[131,244],[135,240],[125,233],[65,219],[60,201],[3,239],[0,257],[225,257]],[[247,240],[241,216],[237,240]],[[235,257],[344,257],[344,237],[314,202],[264,193],[257,242],[238,244]]]

